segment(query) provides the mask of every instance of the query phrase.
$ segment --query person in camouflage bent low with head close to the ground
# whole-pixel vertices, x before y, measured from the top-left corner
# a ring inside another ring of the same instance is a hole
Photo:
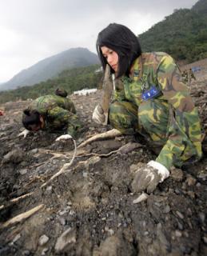
[[[60,95],[60,96],[59,96]],[[56,90],[56,95],[45,95],[37,98],[23,111],[22,123],[26,130],[20,135],[38,130],[62,130],[67,126],[68,134],[60,136],[57,140],[74,137],[81,127],[74,103],[66,98],[61,90]]]

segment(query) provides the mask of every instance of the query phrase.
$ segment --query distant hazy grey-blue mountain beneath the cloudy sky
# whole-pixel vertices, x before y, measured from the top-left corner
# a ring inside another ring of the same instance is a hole
[[[9,82],[3,83],[0,90],[11,90],[22,86],[32,86],[35,83],[55,78],[63,70],[78,66],[89,66],[100,63],[97,54],[86,48],[72,48],[60,54],[45,58],[16,74]]]

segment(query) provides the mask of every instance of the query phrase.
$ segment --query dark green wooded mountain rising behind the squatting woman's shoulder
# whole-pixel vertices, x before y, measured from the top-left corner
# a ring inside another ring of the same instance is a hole
[[[207,58],[207,0],[199,0],[190,10],[174,10],[139,39],[143,51],[164,51],[187,62]]]

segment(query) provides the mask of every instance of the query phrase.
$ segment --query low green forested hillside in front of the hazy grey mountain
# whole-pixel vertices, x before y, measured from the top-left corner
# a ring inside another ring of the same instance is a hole
[[[39,82],[34,86],[2,91],[0,92],[0,103],[54,94],[54,90],[57,88],[65,89],[69,94],[83,88],[96,88],[102,78],[102,72],[96,72],[99,68],[100,65],[92,65],[64,70],[58,75],[58,78],[48,79],[46,82]]]

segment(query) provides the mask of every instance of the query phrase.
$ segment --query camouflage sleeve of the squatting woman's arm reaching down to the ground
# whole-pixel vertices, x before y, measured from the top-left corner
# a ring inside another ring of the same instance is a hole
[[[156,161],[169,169],[191,157],[201,158],[201,122],[181,71],[169,55],[161,59],[157,82],[169,102],[169,126],[167,141]]]

